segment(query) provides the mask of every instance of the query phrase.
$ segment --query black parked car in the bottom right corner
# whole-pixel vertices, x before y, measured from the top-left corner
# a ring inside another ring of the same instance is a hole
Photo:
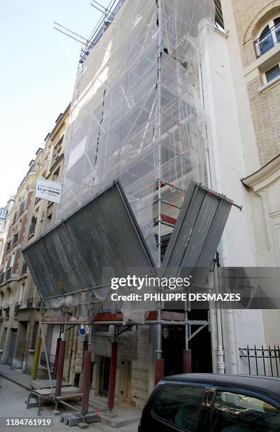
[[[163,378],[139,432],[280,432],[280,378],[185,373]]]

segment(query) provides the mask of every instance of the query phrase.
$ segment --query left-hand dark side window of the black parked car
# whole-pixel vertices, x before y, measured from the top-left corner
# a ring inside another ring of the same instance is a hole
[[[203,397],[204,388],[169,385],[158,396],[153,413],[184,431],[197,431]]]

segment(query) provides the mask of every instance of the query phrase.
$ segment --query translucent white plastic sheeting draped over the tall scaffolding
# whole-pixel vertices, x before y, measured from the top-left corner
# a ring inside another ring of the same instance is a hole
[[[214,16],[212,0],[124,1],[78,71],[59,220],[119,178],[159,262],[157,181],[204,181],[199,56]]]

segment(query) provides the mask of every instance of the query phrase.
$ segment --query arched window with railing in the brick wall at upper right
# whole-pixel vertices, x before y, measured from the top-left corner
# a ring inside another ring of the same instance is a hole
[[[269,49],[280,43],[280,17],[270,20],[260,32],[259,38],[255,41],[257,57],[262,56]]]

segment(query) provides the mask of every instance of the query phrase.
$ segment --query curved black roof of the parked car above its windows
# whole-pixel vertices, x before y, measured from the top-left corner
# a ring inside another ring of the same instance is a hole
[[[167,376],[161,383],[199,383],[206,385],[227,385],[255,390],[265,395],[280,397],[280,378],[271,376],[229,375],[221,373],[182,373],[181,375]]]

